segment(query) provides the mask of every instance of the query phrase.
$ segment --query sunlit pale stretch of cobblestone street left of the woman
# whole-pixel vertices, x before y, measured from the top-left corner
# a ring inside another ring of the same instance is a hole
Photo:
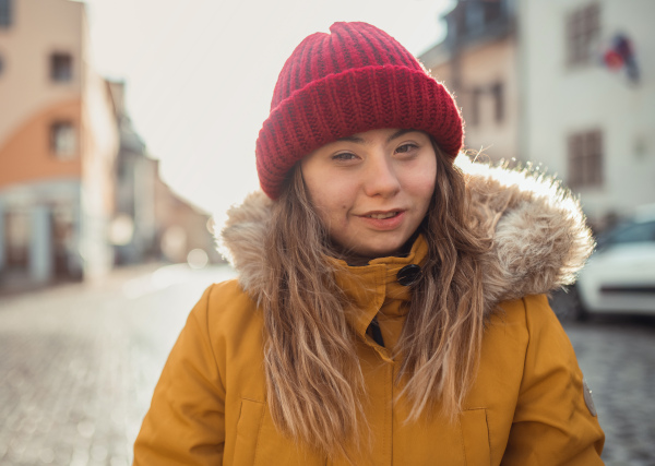
[[[131,464],[187,314],[233,274],[174,266],[0,299],[0,464]]]

